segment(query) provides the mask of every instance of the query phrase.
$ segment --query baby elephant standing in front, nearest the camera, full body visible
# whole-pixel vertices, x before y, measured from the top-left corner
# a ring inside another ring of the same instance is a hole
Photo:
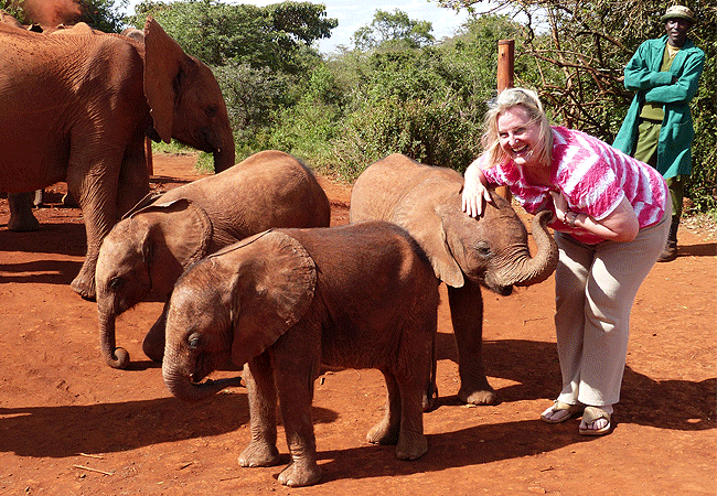
[[[167,316],[162,373],[178,398],[227,384],[205,381],[244,366],[252,441],[243,466],[279,463],[277,399],[292,462],[288,486],[321,478],[311,420],[320,364],[378,368],[386,413],[367,435],[396,444],[400,460],[426,453],[422,411],[432,397],[438,280],[400,227],[367,222],[323,229],[274,229],[224,248],[176,282]]]

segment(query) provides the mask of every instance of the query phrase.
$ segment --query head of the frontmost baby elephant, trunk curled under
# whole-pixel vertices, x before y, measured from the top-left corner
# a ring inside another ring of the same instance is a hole
[[[192,266],[176,282],[167,314],[162,375],[168,389],[193,401],[232,385],[202,380],[227,362],[240,367],[272,345],[308,311],[315,284],[307,250],[271,230]]]

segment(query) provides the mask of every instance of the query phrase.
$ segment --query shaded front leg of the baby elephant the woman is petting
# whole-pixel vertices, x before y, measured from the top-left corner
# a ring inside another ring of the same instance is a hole
[[[458,347],[461,387],[458,399],[472,405],[495,402],[495,390],[483,368],[483,299],[478,283],[465,280],[462,288],[448,287],[448,302]]]

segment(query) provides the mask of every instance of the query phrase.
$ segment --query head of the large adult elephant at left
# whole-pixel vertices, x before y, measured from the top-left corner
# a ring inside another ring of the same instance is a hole
[[[213,153],[214,170],[234,165],[234,136],[212,71],[186,55],[151,17],[145,24],[145,96],[154,131]]]

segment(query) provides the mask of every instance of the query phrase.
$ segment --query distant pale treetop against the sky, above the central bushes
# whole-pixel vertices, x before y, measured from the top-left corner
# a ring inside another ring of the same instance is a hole
[[[376,10],[371,24],[358,29],[352,41],[356,50],[362,52],[386,45],[419,48],[434,43],[434,35],[430,34],[432,30],[430,22],[411,20],[398,9],[393,13]]]

